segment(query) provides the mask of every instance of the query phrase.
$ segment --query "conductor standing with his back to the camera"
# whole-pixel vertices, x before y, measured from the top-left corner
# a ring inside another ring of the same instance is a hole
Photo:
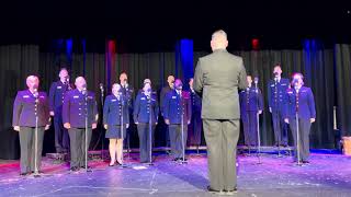
[[[211,193],[237,189],[236,150],[240,108],[238,89],[247,88],[242,58],[227,51],[224,31],[212,35],[213,53],[197,61],[194,90],[202,95],[202,119],[208,153]]]

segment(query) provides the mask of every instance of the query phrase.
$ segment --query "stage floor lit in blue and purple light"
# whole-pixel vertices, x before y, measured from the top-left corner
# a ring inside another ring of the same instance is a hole
[[[138,154],[126,161],[128,169],[109,167],[107,161],[90,161],[92,172],[69,174],[68,163],[43,159],[39,178],[20,177],[19,162],[0,162],[0,196],[216,196],[205,188],[205,154],[189,155],[188,164],[170,162],[167,154],[156,157],[155,165],[137,163]],[[341,154],[313,154],[310,165],[296,166],[292,158],[263,154],[238,157],[238,193],[248,197],[350,197],[351,158]]]

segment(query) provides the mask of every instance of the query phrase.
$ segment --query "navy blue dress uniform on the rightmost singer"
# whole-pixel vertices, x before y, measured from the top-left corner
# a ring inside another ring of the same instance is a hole
[[[302,162],[307,162],[309,158],[309,130],[310,118],[316,118],[315,99],[312,90],[307,86],[288,89],[285,94],[284,118],[288,119],[290,128],[293,132],[295,146],[297,143],[296,111],[299,129],[299,155]],[[295,149],[295,161],[297,161],[297,150]]]

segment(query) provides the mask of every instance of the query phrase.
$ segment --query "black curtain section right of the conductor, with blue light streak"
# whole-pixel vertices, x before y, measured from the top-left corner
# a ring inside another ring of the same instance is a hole
[[[312,148],[335,148],[332,50],[308,47],[303,50],[235,51],[234,54],[244,58],[249,74],[259,77],[259,88],[263,93],[264,101],[264,112],[260,116],[261,141],[263,144],[271,146],[274,142],[272,117],[268,108],[268,82],[273,77],[274,65],[280,62],[283,77],[291,79],[294,72],[301,72],[304,74],[305,85],[312,88],[314,92],[317,118],[310,131]],[[288,135],[290,144],[293,144],[292,134]]]

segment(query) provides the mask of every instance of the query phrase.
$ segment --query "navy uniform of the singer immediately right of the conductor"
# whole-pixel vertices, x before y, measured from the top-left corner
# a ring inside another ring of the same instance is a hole
[[[239,93],[240,113],[244,126],[245,144],[258,144],[257,114],[263,109],[263,99],[260,89],[248,86]]]

